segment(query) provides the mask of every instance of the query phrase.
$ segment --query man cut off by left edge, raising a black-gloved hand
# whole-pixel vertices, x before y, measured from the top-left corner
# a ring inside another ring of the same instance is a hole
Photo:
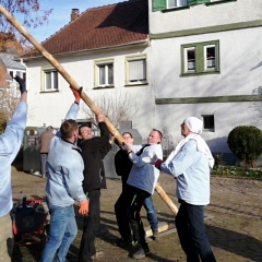
[[[11,164],[19,153],[27,115],[27,91],[25,82],[14,78],[20,84],[21,98],[12,119],[0,135],[0,261],[11,261],[13,248],[13,233],[10,211],[13,206],[11,188]]]

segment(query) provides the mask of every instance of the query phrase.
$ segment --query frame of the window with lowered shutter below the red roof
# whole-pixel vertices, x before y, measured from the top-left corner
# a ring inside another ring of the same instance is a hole
[[[138,72],[133,73],[133,74],[136,74],[136,75],[141,75],[141,76],[138,76],[136,80],[135,80],[134,76],[133,76],[133,79],[131,79],[131,76],[130,76],[130,74],[131,74],[130,64],[132,62],[135,62],[135,61],[143,61],[142,72],[138,71]],[[136,85],[136,84],[147,83],[147,59],[146,59],[146,55],[126,57],[126,83],[127,83],[127,85]]]

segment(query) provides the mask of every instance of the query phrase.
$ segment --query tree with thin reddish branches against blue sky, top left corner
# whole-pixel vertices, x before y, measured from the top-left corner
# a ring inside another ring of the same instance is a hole
[[[1,0],[1,5],[12,15],[22,14],[22,24],[29,28],[36,28],[48,21],[50,10],[40,10],[40,0]],[[7,48],[7,43],[17,39],[21,45],[25,45],[26,39],[0,14],[0,48]]]

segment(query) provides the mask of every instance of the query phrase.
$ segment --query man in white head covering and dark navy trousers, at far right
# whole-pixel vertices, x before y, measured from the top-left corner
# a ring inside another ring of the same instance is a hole
[[[215,262],[209,239],[205,235],[204,206],[210,203],[210,168],[214,158],[205,141],[199,135],[203,122],[189,117],[181,123],[184,139],[176,146],[166,162],[144,157],[145,163],[154,164],[160,171],[177,178],[179,212],[176,227],[188,262]]]

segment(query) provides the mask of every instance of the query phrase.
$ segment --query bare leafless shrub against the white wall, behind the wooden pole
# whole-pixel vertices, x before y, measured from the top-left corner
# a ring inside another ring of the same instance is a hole
[[[96,95],[92,100],[116,128],[119,128],[121,121],[130,121],[139,110],[136,103],[131,102],[131,95],[128,92],[105,92]],[[82,106],[82,111],[87,118],[95,117],[94,112],[85,105]]]

